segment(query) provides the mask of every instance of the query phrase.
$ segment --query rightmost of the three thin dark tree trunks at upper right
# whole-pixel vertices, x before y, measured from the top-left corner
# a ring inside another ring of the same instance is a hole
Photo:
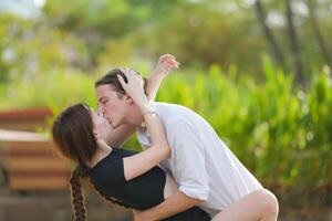
[[[331,54],[329,53],[329,46],[325,43],[325,41],[323,39],[323,35],[321,34],[319,24],[317,22],[315,1],[308,0],[308,9],[309,9],[309,17],[310,17],[312,31],[313,31],[317,40],[318,40],[318,43],[319,43],[320,49],[322,51],[325,63],[330,66],[330,69],[332,69],[332,59],[331,59]]]

